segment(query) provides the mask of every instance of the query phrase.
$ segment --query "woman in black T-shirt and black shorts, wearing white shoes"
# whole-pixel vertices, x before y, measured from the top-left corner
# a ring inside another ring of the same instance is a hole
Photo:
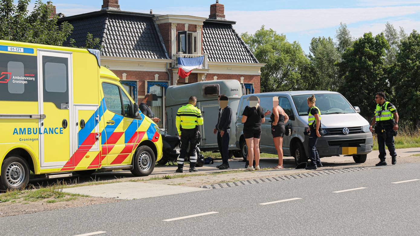
[[[255,157],[255,169],[259,170],[260,162],[260,137],[261,123],[265,122],[264,116],[270,114],[270,111],[264,113],[260,106],[260,99],[256,96],[249,97],[249,106],[245,106],[242,113],[242,123],[244,123],[244,138],[248,146],[248,163],[247,170],[253,171],[252,162]]]

